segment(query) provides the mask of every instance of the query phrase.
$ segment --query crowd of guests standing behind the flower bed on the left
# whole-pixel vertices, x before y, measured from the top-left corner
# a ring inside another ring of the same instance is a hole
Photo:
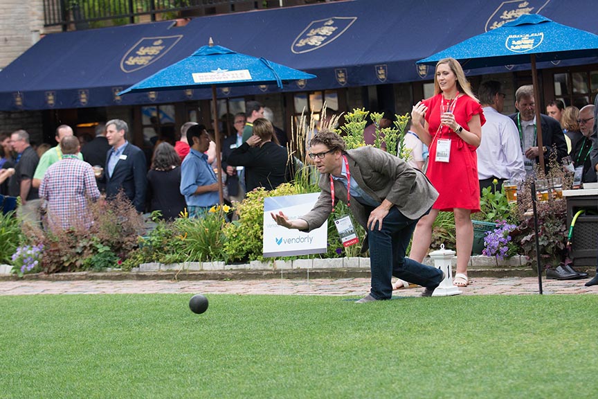
[[[280,143],[287,142],[287,134],[263,117],[273,118],[271,109],[257,101],[248,102],[246,108],[246,113],[234,116],[234,132],[223,141],[226,202],[242,201],[257,187],[272,190],[293,180],[296,170]],[[60,125],[55,131],[57,145],[47,145],[45,151],[41,145],[37,152],[33,149],[25,130],[3,134],[0,195],[21,198],[17,214],[24,220],[39,224],[43,219],[62,229],[82,223],[74,215],[88,214],[84,202],[110,200],[118,193],[138,213],[160,211],[165,220],[174,220],[185,209],[190,217],[202,218],[219,204],[216,146],[204,125],[183,123],[175,140],[156,136],[149,170],[145,149],[128,138],[129,125],[120,119],[98,124],[91,140],[81,140],[70,126]]]

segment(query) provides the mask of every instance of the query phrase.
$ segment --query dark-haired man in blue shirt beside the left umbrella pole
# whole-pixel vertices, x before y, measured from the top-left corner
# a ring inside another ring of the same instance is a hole
[[[210,136],[203,125],[187,130],[191,149],[181,165],[181,194],[185,196],[190,218],[202,218],[219,202],[218,179],[208,163],[205,152],[210,147]]]

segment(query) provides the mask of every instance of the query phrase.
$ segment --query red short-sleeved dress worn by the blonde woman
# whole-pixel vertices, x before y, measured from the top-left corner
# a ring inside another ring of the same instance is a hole
[[[430,144],[430,160],[426,176],[432,182],[440,196],[432,206],[440,211],[453,211],[453,208],[480,211],[480,181],[478,181],[478,157],[475,147],[469,145],[453,132],[450,127],[443,126],[440,131],[440,105],[442,93],[424,100],[428,107],[426,121],[428,132],[432,137]],[[446,104],[446,100],[445,104]],[[462,95],[453,104],[455,121],[465,130],[473,115],[480,115],[482,125],[486,123],[482,106],[473,98]],[[435,160],[438,139],[451,139],[449,162]]]

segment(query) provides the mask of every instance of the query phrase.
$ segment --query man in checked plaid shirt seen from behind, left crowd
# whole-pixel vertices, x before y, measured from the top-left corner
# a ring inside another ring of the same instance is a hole
[[[51,229],[89,229],[89,200],[96,201],[100,190],[89,163],[78,159],[79,139],[63,137],[62,159],[53,163],[39,186],[39,197],[46,200],[46,225]]]

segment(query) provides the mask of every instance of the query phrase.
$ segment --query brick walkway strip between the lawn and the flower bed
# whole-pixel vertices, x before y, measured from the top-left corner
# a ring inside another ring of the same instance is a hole
[[[586,287],[583,280],[543,281],[544,294],[598,294],[598,286]],[[80,281],[0,281],[2,295],[35,294],[282,294],[363,296],[370,289],[370,278],[316,278],[264,280],[80,280]],[[473,278],[464,295],[538,294],[538,278]],[[418,296],[421,287],[395,291],[398,296]]]

